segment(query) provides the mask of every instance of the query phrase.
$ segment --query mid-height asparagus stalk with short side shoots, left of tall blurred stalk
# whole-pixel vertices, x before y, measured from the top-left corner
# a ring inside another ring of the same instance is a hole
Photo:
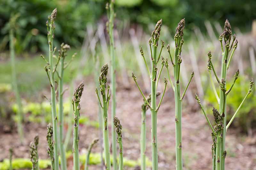
[[[98,100],[100,102],[100,106],[102,108],[102,122],[103,122],[102,129],[103,129],[105,167],[106,167],[106,170],[110,170],[111,164],[110,164],[110,151],[109,151],[109,139],[108,139],[108,103],[109,103],[110,96],[108,96],[108,93],[106,95],[107,74],[108,74],[108,64],[105,64],[101,67],[100,77],[99,77],[102,103],[101,103],[97,88],[95,92],[97,94]],[[109,88],[110,87],[108,86],[108,92],[109,92]]]

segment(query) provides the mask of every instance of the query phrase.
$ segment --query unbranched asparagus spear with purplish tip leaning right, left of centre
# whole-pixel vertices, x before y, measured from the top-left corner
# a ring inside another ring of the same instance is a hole
[[[74,132],[73,132],[73,162],[74,170],[80,170],[79,165],[79,118],[80,118],[80,99],[84,90],[84,81],[82,81],[74,91],[74,99],[72,100],[74,110]]]

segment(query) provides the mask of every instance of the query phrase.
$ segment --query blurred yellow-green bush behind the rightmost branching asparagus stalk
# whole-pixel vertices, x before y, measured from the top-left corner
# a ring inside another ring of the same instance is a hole
[[[232,83],[233,82],[231,81],[227,83],[227,89],[229,89]],[[244,99],[244,96],[248,92],[249,87],[248,79],[239,77],[236,80],[235,85],[227,97],[227,122],[236,112],[236,109],[239,107],[242,100]],[[247,132],[248,128],[252,128],[256,123],[256,97],[254,94],[255,91],[252,90],[252,93],[249,94],[239,112],[237,113],[235,120],[232,122],[232,126],[239,127],[244,132]],[[206,92],[205,101],[211,104],[213,107],[219,109],[219,105],[211,88],[208,88]],[[208,114],[212,114],[211,109],[209,108],[207,111]]]

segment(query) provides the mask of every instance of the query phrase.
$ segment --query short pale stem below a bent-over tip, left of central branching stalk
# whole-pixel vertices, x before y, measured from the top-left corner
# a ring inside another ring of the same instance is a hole
[[[140,169],[146,170],[146,110],[141,111]]]

